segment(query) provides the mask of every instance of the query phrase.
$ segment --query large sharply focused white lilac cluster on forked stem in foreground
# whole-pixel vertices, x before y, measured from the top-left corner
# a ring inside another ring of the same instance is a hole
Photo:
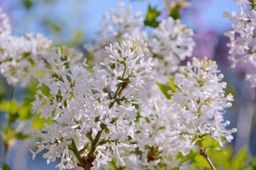
[[[33,159],[46,149],[43,157],[48,163],[61,157],[59,169],[71,169],[76,159],[70,150],[74,152],[76,143],[80,155],[95,159],[97,167],[106,165],[112,158],[117,165],[124,164],[120,148],[136,147],[124,143],[128,136],[133,138],[135,131],[137,110],[132,103],[145,100],[145,84],[153,79],[148,76],[153,63],[143,58],[148,52],[146,45],[141,39],[131,41],[131,37],[121,44],[110,44],[105,47],[109,57],[101,63],[106,70],[95,66],[92,73],[85,68],[86,59],[78,62],[82,54],[65,46],[57,48],[47,59],[51,69],[42,68],[44,75],[38,75],[39,86],[48,86],[51,95],[38,90],[33,110],[41,118],[50,118],[52,123],[45,124],[41,131],[35,130],[42,141],[36,144],[39,148],[36,152],[31,151]],[[114,64],[114,68],[109,64]],[[94,154],[95,158],[91,156]]]

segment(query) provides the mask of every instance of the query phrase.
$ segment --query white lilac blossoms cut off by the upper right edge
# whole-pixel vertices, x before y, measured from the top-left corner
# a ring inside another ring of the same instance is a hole
[[[232,23],[233,30],[226,31],[225,36],[230,38],[227,43],[229,50],[229,59],[232,62],[231,67],[234,68],[238,62],[250,62],[256,67],[256,10],[255,1],[250,0],[234,0],[240,8],[240,12],[231,13],[225,11],[223,17],[229,18]],[[246,75],[246,79],[256,87],[256,74]]]

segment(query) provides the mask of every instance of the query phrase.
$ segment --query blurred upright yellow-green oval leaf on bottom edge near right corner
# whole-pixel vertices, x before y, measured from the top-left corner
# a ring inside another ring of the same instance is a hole
[[[234,157],[231,163],[233,169],[234,170],[242,169],[242,167],[246,165],[247,159],[248,159],[248,150],[245,147],[243,147],[238,151],[236,157]]]

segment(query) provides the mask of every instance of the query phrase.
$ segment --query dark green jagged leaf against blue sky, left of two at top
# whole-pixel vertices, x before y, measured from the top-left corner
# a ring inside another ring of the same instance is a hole
[[[156,18],[160,15],[161,12],[157,11],[156,7],[152,8],[150,5],[148,6],[148,11],[146,13],[146,20],[144,21],[145,25],[156,28],[158,27],[159,22]]]

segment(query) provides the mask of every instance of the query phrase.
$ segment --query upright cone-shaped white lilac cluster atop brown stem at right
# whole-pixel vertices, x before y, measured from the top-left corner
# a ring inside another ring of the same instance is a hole
[[[225,96],[226,82],[221,82],[220,74],[215,61],[192,58],[175,74],[174,84],[176,92],[172,92],[172,102],[181,107],[175,129],[180,132],[177,143],[186,142],[189,152],[196,141],[202,137],[212,138],[223,146],[222,139],[228,142],[233,139],[231,133],[236,128],[226,130],[229,121],[224,121],[223,114],[226,107],[231,107],[233,96]],[[186,153],[184,153],[186,154]]]

